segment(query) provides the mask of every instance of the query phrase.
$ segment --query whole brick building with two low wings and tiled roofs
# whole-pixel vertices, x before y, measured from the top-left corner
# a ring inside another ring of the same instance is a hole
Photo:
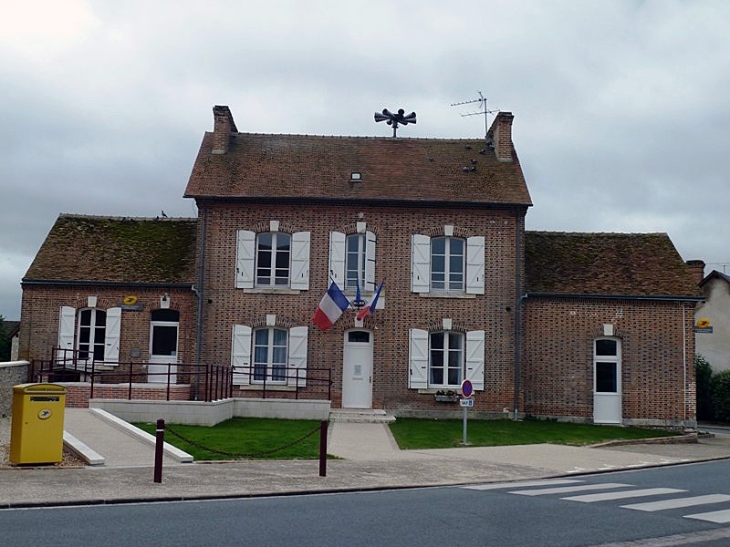
[[[185,190],[196,220],[59,217],[23,279],[21,357],[222,364],[234,397],[397,416],[460,415],[468,379],[478,417],[694,425],[691,269],[663,234],[526,232],[512,122],[267,135],[217,106]],[[333,281],[353,305],[322,331]]]

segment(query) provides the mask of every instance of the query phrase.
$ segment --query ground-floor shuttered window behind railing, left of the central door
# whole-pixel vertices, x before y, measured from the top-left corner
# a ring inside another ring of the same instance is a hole
[[[233,384],[306,386],[307,327],[233,325]]]

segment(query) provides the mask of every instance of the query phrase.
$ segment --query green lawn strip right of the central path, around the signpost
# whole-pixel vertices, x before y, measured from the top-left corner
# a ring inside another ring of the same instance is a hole
[[[453,448],[463,446],[462,420],[422,420],[398,418],[390,425],[402,449]],[[676,435],[657,429],[569,424],[538,420],[469,420],[469,446],[507,446],[516,444],[589,445],[617,439],[646,439]]]

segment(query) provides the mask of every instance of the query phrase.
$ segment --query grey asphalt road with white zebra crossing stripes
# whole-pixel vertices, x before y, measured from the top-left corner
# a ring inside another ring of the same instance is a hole
[[[719,546],[730,545],[729,477],[719,461],[467,487],[8,509],[0,543]]]

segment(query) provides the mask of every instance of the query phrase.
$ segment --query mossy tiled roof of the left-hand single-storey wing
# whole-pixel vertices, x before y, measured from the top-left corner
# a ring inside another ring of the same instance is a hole
[[[192,283],[195,219],[61,215],[23,281]]]

